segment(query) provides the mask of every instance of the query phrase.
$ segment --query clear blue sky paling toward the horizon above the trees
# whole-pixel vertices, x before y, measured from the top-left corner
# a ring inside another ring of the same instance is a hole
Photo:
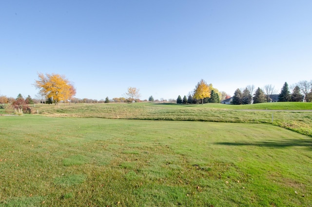
[[[77,98],[176,99],[312,79],[312,0],[1,0],[0,94],[65,75]]]

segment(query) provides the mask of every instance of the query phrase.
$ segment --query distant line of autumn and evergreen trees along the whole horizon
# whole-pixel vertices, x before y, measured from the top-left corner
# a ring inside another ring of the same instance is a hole
[[[69,82],[65,76],[59,74],[38,74],[38,80],[34,86],[39,89],[36,99],[32,99],[29,95],[24,98],[21,94],[17,98],[0,96],[0,108],[4,108],[4,104],[20,112],[30,112],[29,104],[59,104],[60,101],[65,103],[134,103],[140,102],[139,89],[129,87],[123,97],[113,98],[110,100],[106,97],[105,100],[95,99],[78,99],[75,98],[76,88],[73,83]],[[245,89],[237,88],[234,92],[232,104],[257,104],[272,102],[272,95],[276,90],[272,84],[265,85],[263,88],[258,87],[254,92],[254,85],[248,85]],[[183,99],[179,95],[175,101],[177,104],[206,104],[220,103],[221,100],[231,98],[224,91],[219,92],[213,85],[207,84],[203,79],[200,80],[193,92]],[[144,100],[147,101],[147,100]],[[150,96],[148,101],[154,102],[153,96]],[[158,100],[156,100],[158,101]],[[161,99],[161,101],[164,101]],[[281,92],[278,94],[279,102],[312,102],[312,80],[300,81],[292,85],[292,93],[287,82],[284,83]]]

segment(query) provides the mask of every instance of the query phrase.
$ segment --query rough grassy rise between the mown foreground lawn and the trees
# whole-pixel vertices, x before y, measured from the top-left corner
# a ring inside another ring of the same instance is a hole
[[[35,109],[39,110],[39,113],[54,117],[274,124],[312,136],[312,111],[306,111],[312,109],[312,103],[250,105],[72,104],[65,106],[39,105]]]

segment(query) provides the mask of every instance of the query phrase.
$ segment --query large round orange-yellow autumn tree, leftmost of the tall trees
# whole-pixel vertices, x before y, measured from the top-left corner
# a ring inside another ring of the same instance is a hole
[[[51,98],[57,105],[59,101],[66,101],[70,96],[71,85],[65,76],[59,74],[42,74],[38,73],[38,78],[35,82],[35,87],[39,88],[46,98]],[[76,91],[75,91],[76,93]]]

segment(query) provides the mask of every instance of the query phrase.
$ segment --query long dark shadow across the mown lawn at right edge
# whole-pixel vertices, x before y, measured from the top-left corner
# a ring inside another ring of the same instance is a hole
[[[312,150],[312,139],[292,139],[281,142],[276,142],[273,140],[268,141],[255,141],[255,142],[217,142],[215,145],[232,145],[232,146],[264,146],[264,147],[291,147],[291,146],[305,146],[308,149]]]

